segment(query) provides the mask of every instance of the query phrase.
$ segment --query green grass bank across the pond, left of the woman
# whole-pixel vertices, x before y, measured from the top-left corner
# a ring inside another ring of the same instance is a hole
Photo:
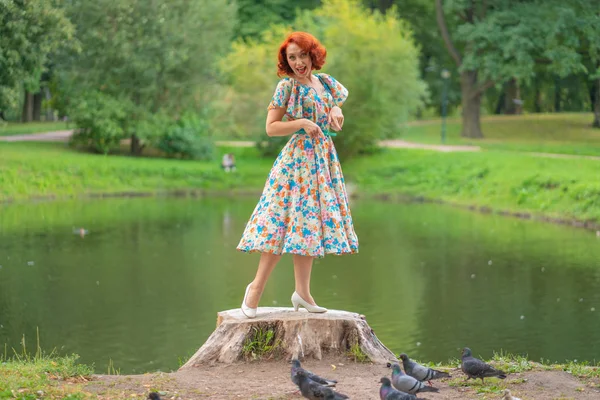
[[[230,189],[257,191],[273,160],[252,148],[221,148],[236,154],[238,172],[213,162],[86,154],[62,143],[0,142],[0,201],[74,197],[95,193],[141,193]]]

